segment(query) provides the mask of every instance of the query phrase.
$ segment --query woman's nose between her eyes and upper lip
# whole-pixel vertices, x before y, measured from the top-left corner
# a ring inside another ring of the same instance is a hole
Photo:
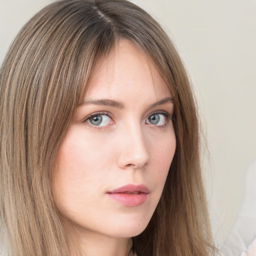
[[[120,168],[145,167],[149,160],[149,145],[139,126],[123,130],[118,143],[117,165]]]

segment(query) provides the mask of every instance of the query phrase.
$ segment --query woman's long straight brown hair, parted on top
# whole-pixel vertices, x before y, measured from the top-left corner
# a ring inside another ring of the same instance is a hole
[[[60,0],[33,16],[0,69],[0,214],[13,255],[68,255],[51,195],[51,173],[70,118],[99,57],[120,38],[155,64],[174,99],[176,151],[138,256],[206,256],[212,251],[189,79],[172,42],[125,0]],[[85,85],[84,85],[85,84]]]

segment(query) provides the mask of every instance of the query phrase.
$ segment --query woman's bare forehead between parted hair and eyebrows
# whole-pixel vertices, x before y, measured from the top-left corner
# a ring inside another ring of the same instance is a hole
[[[130,40],[122,39],[107,57],[98,60],[86,99],[171,96],[154,63]]]

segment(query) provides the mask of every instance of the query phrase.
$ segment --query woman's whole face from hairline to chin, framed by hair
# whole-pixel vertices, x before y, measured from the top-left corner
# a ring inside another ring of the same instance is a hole
[[[172,95],[129,40],[95,68],[53,176],[59,212],[79,232],[131,237],[159,201],[175,150]]]

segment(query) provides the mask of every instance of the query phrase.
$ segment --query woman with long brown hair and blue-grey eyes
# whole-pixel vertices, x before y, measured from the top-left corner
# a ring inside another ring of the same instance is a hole
[[[12,255],[210,255],[198,122],[166,33],[125,0],[61,0],[0,70]]]

